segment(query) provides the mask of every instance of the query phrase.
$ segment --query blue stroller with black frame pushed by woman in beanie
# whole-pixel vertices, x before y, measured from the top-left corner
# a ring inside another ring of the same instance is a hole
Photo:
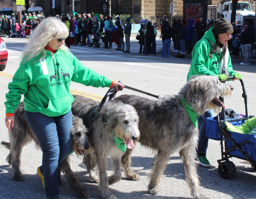
[[[233,77],[228,77],[233,79]],[[233,126],[240,126],[246,120],[253,118],[254,116],[248,116],[247,110],[247,94],[244,87],[244,82],[240,79],[244,103],[245,103],[245,116],[241,118],[226,119]],[[220,97],[220,100],[224,102],[224,99]],[[221,115],[222,117],[219,117]],[[214,140],[220,140],[221,143],[221,160],[218,160],[218,172],[223,179],[232,178],[236,172],[236,165],[229,161],[229,158],[239,158],[248,161],[252,168],[256,170],[256,136],[240,134],[227,130],[225,123],[225,112],[222,107],[222,112],[216,117],[210,117],[206,119],[206,137]],[[240,114],[241,115],[241,114]]]

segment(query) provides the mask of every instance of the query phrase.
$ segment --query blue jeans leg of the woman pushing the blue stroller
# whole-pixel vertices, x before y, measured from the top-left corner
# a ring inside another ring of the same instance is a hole
[[[198,123],[199,123],[199,140],[198,140],[198,148],[197,154],[198,156],[206,156],[206,150],[208,147],[208,138],[205,136],[206,134],[206,118],[214,117],[213,110],[207,110],[204,115],[199,116]]]

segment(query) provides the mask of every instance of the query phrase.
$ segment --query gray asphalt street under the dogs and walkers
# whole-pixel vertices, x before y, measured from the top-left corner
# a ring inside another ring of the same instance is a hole
[[[7,68],[0,72],[0,129],[1,140],[9,141],[8,130],[5,126],[5,94],[8,92],[7,86],[11,81],[12,75],[18,68],[23,48],[28,39],[24,38],[4,38],[7,43],[9,59]],[[121,53],[114,49],[104,50],[89,47],[71,47],[71,52],[86,66],[96,72],[109,77],[112,80],[121,80],[124,84],[136,87],[137,89],[160,95],[177,94],[186,82],[186,76],[190,67],[190,59],[180,59],[170,56],[159,58],[157,56],[147,57],[139,52],[138,41],[135,37],[131,38],[131,53]],[[113,48],[116,45],[113,44]],[[157,40],[157,47],[161,47],[161,41]],[[255,94],[256,94],[256,67],[255,65],[241,66],[234,63],[233,68],[241,73],[245,82],[248,95],[249,115],[256,114]],[[227,108],[234,109],[237,113],[245,113],[244,101],[241,97],[242,88],[239,81],[229,82],[234,86],[234,91],[230,98],[225,99]],[[73,93],[94,97],[99,100],[104,96],[107,88],[86,87],[78,83],[71,83]],[[144,96],[130,90],[123,90],[118,95],[133,94]],[[97,97],[99,96],[99,97]],[[146,97],[146,96],[144,96]],[[148,97],[150,98],[150,97]],[[11,166],[6,162],[9,150],[0,145],[0,198],[45,198],[45,190],[41,185],[41,180],[36,173],[36,169],[41,165],[42,153],[36,150],[33,143],[25,146],[21,157],[21,170],[25,177],[23,182],[12,180]],[[141,179],[133,182],[124,177],[120,182],[111,185],[110,188],[118,198],[190,198],[189,188],[185,182],[184,168],[181,163],[178,151],[170,157],[163,178],[159,184],[158,195],[150,195],[146,192],[148,180],[147,176],[151,171],[155,151],[137,145],[132,156],[133,169],[139,173]],[[231,161],[237,166],[237,174],[230,180],[220,178],[218,173],[217,160],[221,159],[221,148],[218,141],[210,140],[207,157],[212,167],[205,168],[198,166],[198,173],[201,182],[201,193],[209,198],[256,198],[255,182],[256,172],[250,164],[244,160],[232,158]],[[82,157],[71,155],[71,167],[78,175],[84,188],[91,197],[100,198],[98,185],[89,180],[89,175],[82,163]],[[109,175],[112,168],[108,168]],[[64,184],[59,187],[60,198],[76,198],[71,190],[69,183],[62,175]]]

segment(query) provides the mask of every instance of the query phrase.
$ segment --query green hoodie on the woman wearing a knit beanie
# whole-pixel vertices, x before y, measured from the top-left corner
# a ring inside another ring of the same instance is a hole
[[[209,57],[209,52],[212,48],[210,41],[216,43],[214,33],[212,33],[213,29],[214,28],[210,28],[204,34],[203,38],[196,43],[193,50],[191,66],[187,74],[187,81],[193,75],[217,76],[220,74],[222,53],[218,55],[216,52],[214,52],[211,56],[211,59]],[[227,71],[229,72],[230,76],[233,76],[233,74],[236,73],[233,71],[229,54]]]

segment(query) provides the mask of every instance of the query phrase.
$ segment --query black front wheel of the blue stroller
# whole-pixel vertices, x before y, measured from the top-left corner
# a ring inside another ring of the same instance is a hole
[[[237,168],[236,168],[236,165],[234,165],[233,162],[225,161],[225,162],[222,162],[221,164],[222,164],[223,169],[221,169],[220,164],[218,166],[218,172],[219,172],[221,178],[230,179],[234,175],[236,175]]]

